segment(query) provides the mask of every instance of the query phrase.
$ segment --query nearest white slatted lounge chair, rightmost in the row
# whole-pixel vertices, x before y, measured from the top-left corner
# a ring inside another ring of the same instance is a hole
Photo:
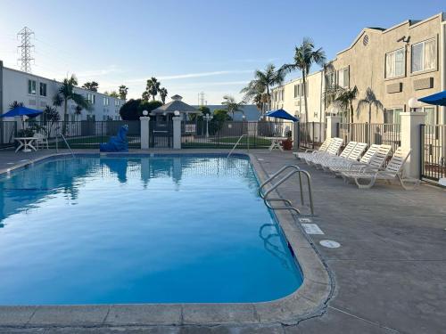
[[[354,179],[359,189],[370,189],[376,183],[377,180],[385,180],[387,183],[391,183],[392,180],[398,180],[401,186],[408,190],[402,178],[402,171],[406,160],[409,158],[410,150],[403,151],[401,147],[393,153],[392,159],[385,168],[366,167],[359,172],[346,172],[343,173],[343,177],[347,179]],[[368,180],[368,183],[359,183],[359,180]],[[419,183],[418,180],[408,179],[409,182]]]

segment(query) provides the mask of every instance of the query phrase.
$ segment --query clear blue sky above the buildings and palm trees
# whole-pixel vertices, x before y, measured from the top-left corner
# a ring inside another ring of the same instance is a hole
[[[33,73],[100,91],[128,86],[139,97],[155,76],[169,95],[209,104],[238,92],[254,69],[292,60],[293,47],[312,37],[328,58],[351,44],[364,27],[388,28],[446,11],[444,0],[358,1],[143,1],[0,0],[0,60],[19,68],[16,33],[36,33]],[[290,77],[298,77],[293,73]]]

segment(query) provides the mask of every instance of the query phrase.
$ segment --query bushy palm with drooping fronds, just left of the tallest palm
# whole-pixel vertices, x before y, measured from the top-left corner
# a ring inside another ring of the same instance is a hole
[[[257,69],[254,72],[254,79],[240,91],[244,94],[244,102],[249,102],[254,98],[257,102],[266,100],[262,102],[262,111],[265,111],[266,104],[271,101],[270,88],[282,84],[284,77],[285,73],[277,71],[273,64],[268,64],[264,71]],[[266,94],[266,99],[261,98],[262,94]]]

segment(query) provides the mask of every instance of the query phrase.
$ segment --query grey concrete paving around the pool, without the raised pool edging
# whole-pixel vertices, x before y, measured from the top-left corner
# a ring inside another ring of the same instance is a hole
[[[252,151],[268,174],[288,163],[290,153]],[[41,152],[0,151],[0,169]],[[325,233],[312,240],[335,276],[335,296],[325,314],[295,326],[165,326],[122,328],[8,329],[7,333],[446,333],[446,190],[417,191],[378,183],[359,190],[342,179],[310,171],[317,216]],[[297,180],[280,194],[298,202]],[[340,248],[324,248],[335,240]]]

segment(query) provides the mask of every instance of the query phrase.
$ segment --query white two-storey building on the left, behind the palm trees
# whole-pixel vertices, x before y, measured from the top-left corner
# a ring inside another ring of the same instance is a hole
[[[14,101],[22,102],[25,107],[36,110],[44,110],[47,105],[53,106],[54,95],[61,84],[54,79],[6,68],[0,61],[0,114],[7,112]],[[81,114],[77,115],[76,104],[69,102],[67,121],[120,119],[120,107],[125,103],[124,100],[81,87],[75,87],[75,91],[85,96],[91,103],[92,110],[82,110]],[[58,107],[57,110],[62,119],[63,107]]]

